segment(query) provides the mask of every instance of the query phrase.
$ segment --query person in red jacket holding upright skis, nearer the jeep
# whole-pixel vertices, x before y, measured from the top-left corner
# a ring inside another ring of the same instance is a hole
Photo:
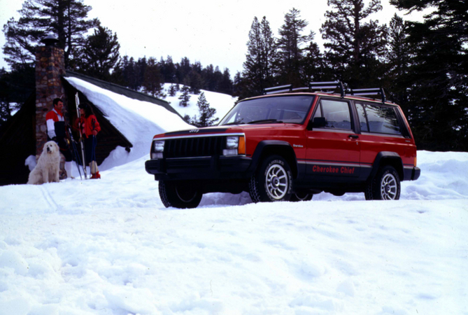
[[[101,175],[96,162],[96,136],[101,131],[101,127],[89,104],[80,104],[78,109],[80,110],[80,118],[76,119],[76,126],[80,129],[85,141],[85,164],[90,165],[91,178],[100,179]]]

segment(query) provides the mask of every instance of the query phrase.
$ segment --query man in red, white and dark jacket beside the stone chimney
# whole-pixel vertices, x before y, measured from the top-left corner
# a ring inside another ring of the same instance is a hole
[[[55,141],[60,148],[60,153],[65,157],[65,171],[66,177],[71,179],[71,167],[72,167],[72,158],[71,152],[69,149],[69,144],[66,139],[65,132],[65,120],[62,109],[64,108],[64,103],[62,99],[54,99],[52,101],[54,109],[49,111],[45,116],[45,123],[47,124],[47,141]]]

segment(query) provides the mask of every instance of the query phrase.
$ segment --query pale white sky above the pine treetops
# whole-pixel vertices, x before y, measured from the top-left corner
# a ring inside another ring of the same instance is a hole
[[[18,18],[17,10],[22,0],[0,0],[0,25],[12,17]],[[309,22],[304,34],[315,32],[315,41],[322,44],[320,27],[325,22],[324,14],[329,9],[327,0],[251,1],[251,0],[200,0],[200,1],[90,1],[89,18],[99,18],[104,27],[117,33],[120,55],[161,57],[170,55],[173,62],[187,57],[190,62],[202,66],[228,68],[231,76],[242,71],[247,52],[248,31],[253,18],[266,16],[274,35],[284,22],[284,16],[292,8],[301,11],[302,19]],[[382,1],[383,10],[371,16],[373,20],[387,23],[398,10]],[[398,13],[400,16],[404,13]],[[411,18],[421,14],[414,13]],[[0,46],[5,38],[0,34]],[[8,66],[0,53],[0,67]]]

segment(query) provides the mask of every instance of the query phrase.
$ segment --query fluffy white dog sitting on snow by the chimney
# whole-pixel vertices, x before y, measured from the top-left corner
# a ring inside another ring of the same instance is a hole
[[[43,151],[36,167],[29,173],[27,183],[32,185],[41,185],[43,183],[58,183],[60,168],[59,146],[54,141],[48,141],[44,144]]]

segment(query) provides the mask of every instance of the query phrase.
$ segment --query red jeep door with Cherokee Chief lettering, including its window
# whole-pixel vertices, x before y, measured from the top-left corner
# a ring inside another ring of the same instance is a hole
[[[321,97],[314,118],[325,118],[325,126],[309,124],[306,130],[306,177],[325,176],[330,181],[357,177],[360,173],[360,141],[353,111],[346,99]]]

